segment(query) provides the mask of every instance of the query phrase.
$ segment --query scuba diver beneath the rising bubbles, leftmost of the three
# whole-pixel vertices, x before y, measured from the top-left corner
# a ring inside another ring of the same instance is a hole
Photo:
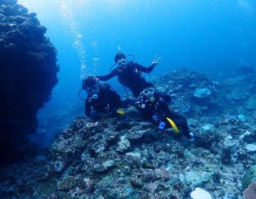
[[[118,108],[123,107],[121,97],[115,91],[111,90],[110,85],[100,84],[95,77],[87,77],[83,80],[82,89],[84,89],[88,94],[87,98],[84,99],[85,114],[88,117],[97,119],[99,116],[97,112],[113,115],[117,113],[124,114],[122,110],[118,110]],[[94,112],[92,112],[92,107]]]

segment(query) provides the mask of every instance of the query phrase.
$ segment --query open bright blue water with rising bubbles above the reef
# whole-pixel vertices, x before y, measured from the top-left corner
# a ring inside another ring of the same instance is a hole
[[[252,0],[19,0],[36,12],[58,50],[60,82],[42,111],[65,110],[79,101],[85,71],[105,75],[120,49],[161,75],[188,70],[236,71],[241,59],[256,66],[256,3]],[[147,75],[146,75],[147,77]],[[116,78],[116,91],[124,89]],[[83,101],[81,101],[83,103]]]

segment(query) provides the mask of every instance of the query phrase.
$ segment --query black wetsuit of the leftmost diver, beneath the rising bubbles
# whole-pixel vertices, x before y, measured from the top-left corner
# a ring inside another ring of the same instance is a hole
[[[109,85],[100,85],[100,92],[97,99],[88,96],[85,101],[85,114],[91,116],[91,108],[96,112],[108,113],[113,112],[114,109],[122,108],[122,101],[120,95],[112,91]]]

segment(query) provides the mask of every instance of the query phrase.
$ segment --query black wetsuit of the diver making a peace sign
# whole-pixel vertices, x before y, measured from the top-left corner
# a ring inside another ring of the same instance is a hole
[[[150,73],[153,69],[153,66],[144,67],[130,61],[127,63],[127,67],[120,66],[115,68],[115,70],[111,71],[108,75],[96,77],[99,78],[99,80],[108,81],[112,77],[117,76],[118,82],[131,89],[134,98],[138,98],[141,91],[147,87],[154,87],[154,85],[147,82],[142,75],[142,72]]]

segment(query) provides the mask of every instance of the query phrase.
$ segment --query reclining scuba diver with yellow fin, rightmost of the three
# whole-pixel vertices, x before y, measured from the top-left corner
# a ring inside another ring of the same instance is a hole
[[[159,125],[159,129],[173,128],[177,133],[182,128],[182,133],[186,140],[193,141],[193,133],[189,133],[188,122],[185,117],[170,111],[167,103],[171,102],[171,98],[166,94],[157,92],[153,87],[144,89],[139,98],[140,103],[137,106],[139,114],[147,121],[154,122]],[[177,125],[177,126],[176,126]]]

